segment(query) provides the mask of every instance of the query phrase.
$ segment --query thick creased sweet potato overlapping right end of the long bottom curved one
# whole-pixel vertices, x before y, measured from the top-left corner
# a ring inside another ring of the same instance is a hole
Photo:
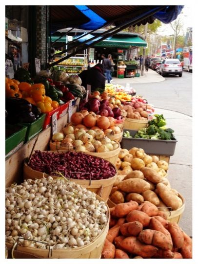
[[[170,240],[160,231],[145,229],[139,233],[138,239],[140,242],[145,244],[152,244],[154,246],[160,247],[163,250],[172,249],[172,244]]]

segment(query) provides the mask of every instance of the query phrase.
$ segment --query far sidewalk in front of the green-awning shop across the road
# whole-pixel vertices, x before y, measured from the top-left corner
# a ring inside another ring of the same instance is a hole
[[[144,83],[158,83],[163,82],[165,78],[163,78],[161,75],[159,75],[155,70],[149,69],[148,72],[144,71],[144,75],[140,77],[134,77],[134,78],[117,78],[113,77],[113,84],[144,84]]]

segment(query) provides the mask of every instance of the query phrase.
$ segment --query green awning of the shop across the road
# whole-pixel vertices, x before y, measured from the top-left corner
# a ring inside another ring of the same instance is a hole
[[[129,48],[130,46],[146,47],[147,43],[140,39],[139,37],[128,37],[128,38],[114,38],[109,40],[103,40],[96,47],[119,47],[119,48]]]

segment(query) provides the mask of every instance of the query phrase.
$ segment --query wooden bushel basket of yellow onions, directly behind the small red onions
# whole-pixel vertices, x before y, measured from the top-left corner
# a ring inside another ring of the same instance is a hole
[[[118,144],[119,144],[119,142],[118,142]],[[68,151],[69,149],[68,149],[68,147],[57,146],[56,142],[50,141],[50,150],[51,151],[59,151],[59,150]],[[116,161],[118,159],[118,155],[119,155],[120,150],[121,150],[121,147],[120,147],[120,144],[119,144],[118,149],[113,150],[113,151],[102,152],[102,153],[86,152],[85,154],[89,154],[89,155],[92,155],[92,156],[97,156],[97,157],[103,158],[103,159],[108,160],[109,162],[111,162],[111,163],[113,163],[115,165]]]

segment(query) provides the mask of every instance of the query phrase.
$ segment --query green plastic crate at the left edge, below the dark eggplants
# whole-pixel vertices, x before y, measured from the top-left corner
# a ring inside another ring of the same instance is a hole
[[[24,143],[25,135],[27,132],[27,127],[18,124],[20,130],[14,134],[5,138],[5,155],[6,157],[16,152]],[[16,128],[16,126],[6,124],[11,130]]]

